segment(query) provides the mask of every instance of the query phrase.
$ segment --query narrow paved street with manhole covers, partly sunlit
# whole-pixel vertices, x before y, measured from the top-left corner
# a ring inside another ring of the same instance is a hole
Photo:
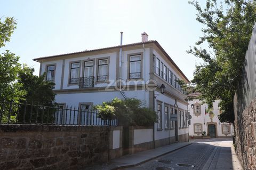
[[[242,169],[231,139],[190,140],[190,142],[193,144],[137,167],[126,169]]]

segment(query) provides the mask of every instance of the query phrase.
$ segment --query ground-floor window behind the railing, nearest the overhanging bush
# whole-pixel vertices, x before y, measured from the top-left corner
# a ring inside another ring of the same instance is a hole
[[[81,104],[81,125],[93,125],[93,117],[91,104]]]

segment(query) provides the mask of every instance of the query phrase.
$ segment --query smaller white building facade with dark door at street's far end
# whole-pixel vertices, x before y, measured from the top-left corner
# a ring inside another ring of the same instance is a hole
[[[218,115],[221,114],[221,110],[218,107],[219,102],[220,100],[213,102],[213,108],[209,112],[207,110],[207,104],[202,101],[198,99],[189,101],[188,110],[191,115],[189,125],[190,139],[200,139],[203,132],[211,138],[233,136],[233,125],[229,123],[221,123],[218,118]]]

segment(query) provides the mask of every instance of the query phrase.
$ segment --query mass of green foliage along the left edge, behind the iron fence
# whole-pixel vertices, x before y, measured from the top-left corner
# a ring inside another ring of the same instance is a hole
[[[10,41],[10,37],[16,28],[17,23],[13,18],[5,18],[1,22],[0,18],[0,48],[5,46],[6,42]],[[8,102],[22,102],[27,100],[27,103],[39,103],[46,106],[52,106],[55,94],[52,91],[53,83],[44,81],[43,76],[34,76],[34,69],[27,66],[21,67],[19,56],[6,50],[0,54],[0,110],[3,111],[2,122],[15,122],[17,119],[18,104],[11,106]],[[5,101],[3,104],[2,101]],[[7,101],[7,102],[6,102]],[[30,110],[31,107],[24,105],[19,107],[19,112],[22,114],[24,110]],[[10,109],[11,108],[11,109]],[[32,108],[33,110],[33,108]],[[42,109],[39,109],[41,112]],[[11,111],[11,115],[9,115]],[[10,116],[10,117],[9,117]],[[26,115],[26,119],[28,115]]]

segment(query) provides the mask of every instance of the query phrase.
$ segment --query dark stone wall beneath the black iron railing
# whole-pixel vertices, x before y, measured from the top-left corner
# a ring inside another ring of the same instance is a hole
[[[106,126],[0,125],[0,169],[80,169],[108,161],[110,131]]]

